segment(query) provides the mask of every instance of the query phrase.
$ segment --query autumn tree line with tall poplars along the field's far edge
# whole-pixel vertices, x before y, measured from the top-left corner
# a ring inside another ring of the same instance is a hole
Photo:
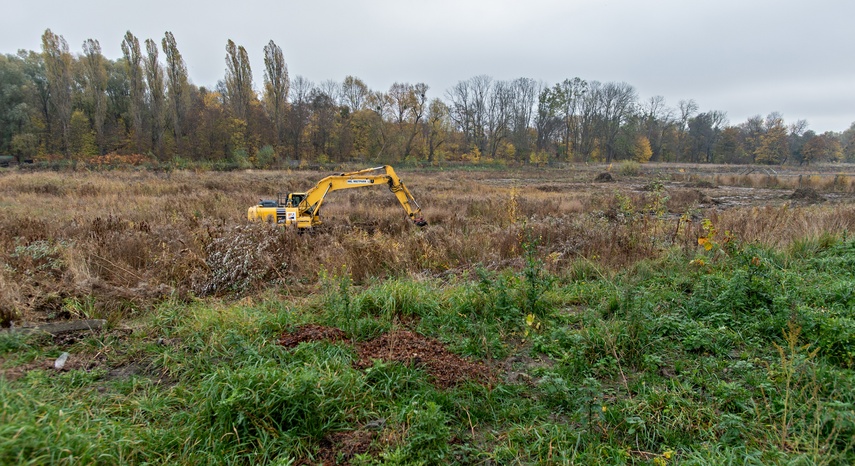
[[[264,46],[261,91],[249,54],[229,40],[214,88],[190,82],[175,37],[128,31],[122,57],[97,40],[72,53],[61,35],[41,51],[0,55],[0,154],[20,160],[141,154],[158,162],[278,167],[329,162],[855,161],[855,123],[816,134],[807,122],[757,115],[731,125],[723,111],[641,100],[624,82],[549,85],[475,76],[442,97],[424,83],[370,89],[355,76],[313,83],[289,76],[282,49]]]

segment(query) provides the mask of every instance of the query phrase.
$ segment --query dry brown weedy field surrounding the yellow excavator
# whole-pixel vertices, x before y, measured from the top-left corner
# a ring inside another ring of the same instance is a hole
[[[6,170],[0,316],[4,325],[111,318],[169,297],[301,295],[316,288],[321,269],[342,267],[357,284],[517,267],[526,240],[555,272],[580,263],[618,269],[667,248],[697,248],[703,218],[774,246],[855,227],[855,176],[841,167],[740,174],[657,165],[594,183],[605,170],[402,168],[427,227],[408,223],[385,190],[358,190],[331,194],[325,224],[307,234],[250,224],[246,208],[308,189],[327,172]],[[791,199],[800,187],[825,201]]]

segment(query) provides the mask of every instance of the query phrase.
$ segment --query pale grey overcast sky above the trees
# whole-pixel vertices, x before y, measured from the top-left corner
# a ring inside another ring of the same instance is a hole
[[[211,87],[232,39],[260,89],[272,39],[292,79],[316,84],[424,82],[444,98],[477,75],[578,76],[670,107],[694,99],[731,124],[780,112],[821,133],[855,122],[853,18],[852,0],[2,0],[0,53],[39,51],[50,28],[73,53],[92,38],[115,60],[126,31],[141,43],[172,31],[191,81]]]

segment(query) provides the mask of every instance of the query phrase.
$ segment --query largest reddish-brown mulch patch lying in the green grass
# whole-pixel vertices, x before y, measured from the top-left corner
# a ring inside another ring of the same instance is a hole
[[[490,371],[483,365],[448,352],[437,340],[406,330],[387,333],[363,344],[359,348],[356,367],[370,367],[376,359],[424,367],[441,388],[452,387],[467,379],[490,379]]]

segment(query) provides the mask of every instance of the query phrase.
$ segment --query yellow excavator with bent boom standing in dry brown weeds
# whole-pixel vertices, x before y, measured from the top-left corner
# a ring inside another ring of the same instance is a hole
[[[262,199],[258,205],[249,208],[246,217],[249,220],[294,225],[299,229],[312,228],[321,224],[319,211],[327,194],[340,189],[378,185],[389,187],[413,223],[418,226],[427,225],[419,215],[421,207],[389,165],[330,175],[304,193],[280,193],[276,200]]]

